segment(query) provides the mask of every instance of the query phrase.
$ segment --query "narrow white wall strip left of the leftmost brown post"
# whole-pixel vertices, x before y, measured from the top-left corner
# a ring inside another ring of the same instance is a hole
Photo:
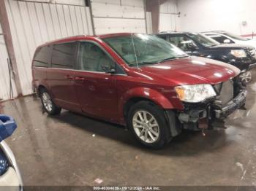
[[[4,35],[1,34],[3,34],[3,31],[0,24],[0,101],[3,101],[12,98],[10,95],[10,79],[12,80],[13,95],[17,96],[17,93],[12,74],[9,74],[7,47],[4,42]]]

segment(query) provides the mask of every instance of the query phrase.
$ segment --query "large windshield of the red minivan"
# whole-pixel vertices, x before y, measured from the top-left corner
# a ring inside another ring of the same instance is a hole
[[[153,64],[188,56],[178,47],[148,34],[130,34],[103,39],[129,66]]]

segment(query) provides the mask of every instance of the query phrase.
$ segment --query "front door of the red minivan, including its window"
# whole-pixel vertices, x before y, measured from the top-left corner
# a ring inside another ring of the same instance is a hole
[[[116,76],[106,73],[114,66],[98,44],[80,42],[75,90],[83,112],[106,120],[117,118]]]

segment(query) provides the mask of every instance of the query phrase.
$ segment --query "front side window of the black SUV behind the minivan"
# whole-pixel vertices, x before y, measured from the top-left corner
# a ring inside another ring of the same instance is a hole
[[[197,45],[195,44],[195,42],[193,42],[192,39],[189,39],[186,36],[169,36],[169,38],[167,38],[167,41],[171,44],[176,45],[176,47],[179,47],[181,50],[184,51],[197,49]]]

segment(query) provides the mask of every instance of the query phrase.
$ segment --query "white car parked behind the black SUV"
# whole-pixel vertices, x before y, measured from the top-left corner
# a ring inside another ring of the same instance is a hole
[[[227,31],[211,31],[211,32],[204,32],[203,34],[210,37],[211,39],[216,40],[221,44],[235,43],[235,44],[241,44],[241,45],[249,45],[249,46],[255,47],[256,49],[256,38],[248,39],[236,34],[231,34]]]

